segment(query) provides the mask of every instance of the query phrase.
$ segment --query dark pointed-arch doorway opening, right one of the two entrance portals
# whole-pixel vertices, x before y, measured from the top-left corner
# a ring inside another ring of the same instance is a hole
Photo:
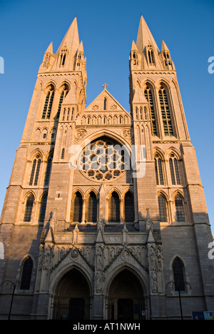
[[[113,279],[108,293],[108,320],[143,320],[143,288],[131,270],[124,269]]]

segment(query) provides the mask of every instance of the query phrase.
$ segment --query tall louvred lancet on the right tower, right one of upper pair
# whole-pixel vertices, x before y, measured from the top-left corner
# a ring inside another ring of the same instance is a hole
[[[161,104],[161,115],[163,120],[164,134],[165,136],[174,136],[170,106],[168,101],[168,93],[164,86],[161,86],[161,88],[159,89],[159,100]]]

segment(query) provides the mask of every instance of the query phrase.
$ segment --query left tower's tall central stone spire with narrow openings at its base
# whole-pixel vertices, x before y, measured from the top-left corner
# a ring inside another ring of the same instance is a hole
[[[79,45],[78,26],[75,17],[56,52],[56,61],[52,71],[73,71],[74,57]]]

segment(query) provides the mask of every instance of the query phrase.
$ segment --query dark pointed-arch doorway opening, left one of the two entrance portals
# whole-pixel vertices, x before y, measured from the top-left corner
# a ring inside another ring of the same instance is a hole
[[[90,318],[90,289],[83,274],[72,269],[58,282],[52,304],[54,320],[88,320]]]

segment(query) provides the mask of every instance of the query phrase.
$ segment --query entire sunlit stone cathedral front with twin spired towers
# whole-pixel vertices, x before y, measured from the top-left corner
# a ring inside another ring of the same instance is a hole
[[[1,213],[0,317],[179,319],[214,310],[212,242],[175,65],[141,16],[130,111],[86,107],[76,18],[44,54]],[[18,283],[19,282],[19,283]],[[171,282],[171,283],[169,283]]]

